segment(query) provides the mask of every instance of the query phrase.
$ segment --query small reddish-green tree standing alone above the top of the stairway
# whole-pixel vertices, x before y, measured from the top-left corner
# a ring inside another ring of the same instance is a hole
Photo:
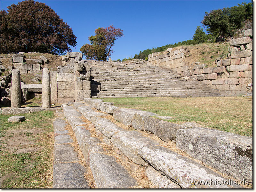
[[[84,44],[80,51],[89,60],[107,61],[113,52],[111,48],[118,37],[124,36],[123,30],[110,25],[107,28],[97,28],[95,35],[88,39],[91,44]]]

